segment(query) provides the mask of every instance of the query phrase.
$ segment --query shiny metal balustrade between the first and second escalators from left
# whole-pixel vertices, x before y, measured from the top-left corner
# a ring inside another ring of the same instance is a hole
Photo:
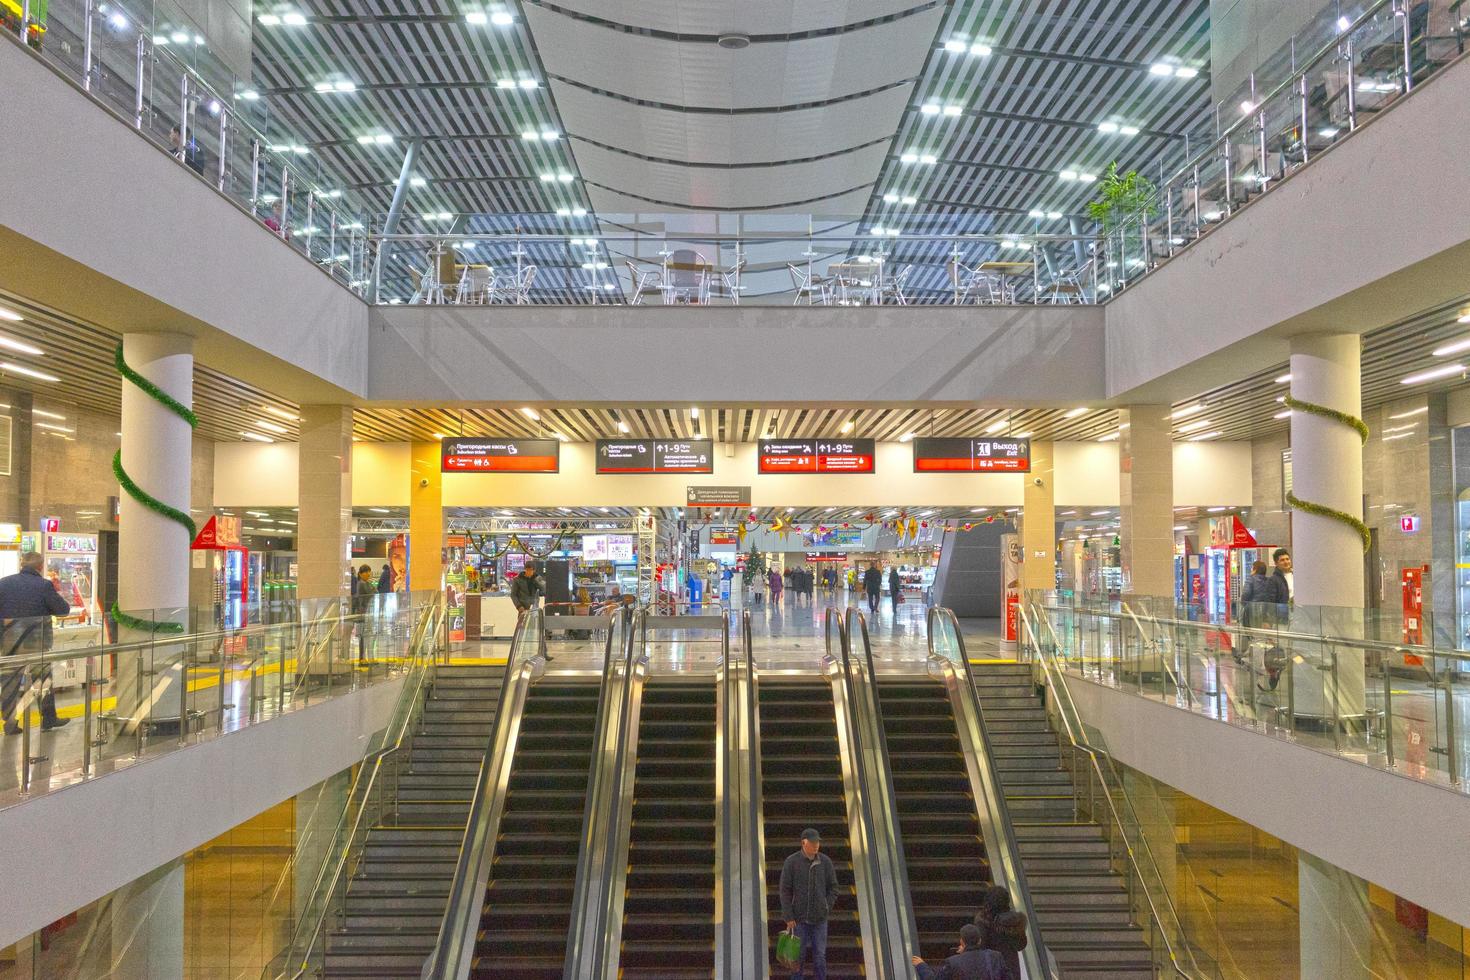
[[[632,710],[648,664],[647,617],[647,608],[625,613],[622,651],[614,651],[609,638],[562,970],[564,980],[617,976],[623,896],[614,884],[626,873],[635,768],[629,752],[637,752],[638,735]],[[619,842],[622,862],[613,854]]]

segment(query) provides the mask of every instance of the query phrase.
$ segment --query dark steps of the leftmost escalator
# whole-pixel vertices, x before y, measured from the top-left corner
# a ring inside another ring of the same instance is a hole
[[[472,977],[562,977],[597,705],[594,680],[526,693]]]

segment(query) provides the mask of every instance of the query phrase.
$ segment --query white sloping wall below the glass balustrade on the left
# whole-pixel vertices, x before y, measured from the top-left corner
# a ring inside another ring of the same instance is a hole
[[[0,810],[0,946],[147,874],[362,760],[401,680],[251,724]]]

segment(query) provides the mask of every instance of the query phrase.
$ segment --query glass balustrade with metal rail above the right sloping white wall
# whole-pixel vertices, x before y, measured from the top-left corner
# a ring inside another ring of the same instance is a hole
[[[1029,594],[1028,605],[1036,644],[1069,673],[1466,789],[1470,654],[1405,642],[1392,614],[1261,604],[1210,616],[1172,599],[1057,592]]]

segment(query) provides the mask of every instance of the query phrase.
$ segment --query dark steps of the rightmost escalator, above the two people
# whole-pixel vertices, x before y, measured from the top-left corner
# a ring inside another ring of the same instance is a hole
[[[878,699],[919,955],[938,964],[991,884],[975,793],[944,685],[881,679]]]

